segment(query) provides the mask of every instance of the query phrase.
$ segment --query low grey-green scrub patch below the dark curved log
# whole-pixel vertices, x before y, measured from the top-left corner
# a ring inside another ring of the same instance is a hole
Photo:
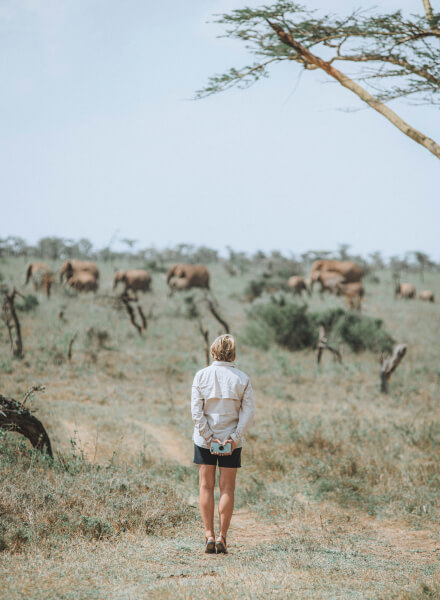
[[[125,532],[162,534],[195,511],[140,455],[132,465],[91,464],[73,440],[52,460],[0,432],[0,552],[54,549]]]

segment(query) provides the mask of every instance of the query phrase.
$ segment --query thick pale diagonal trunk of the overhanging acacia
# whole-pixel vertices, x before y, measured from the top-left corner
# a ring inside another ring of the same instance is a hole
[[[371,108],[373,108],[378,113],[383,115],[386,119],[388,119],[388,121],[390,121],[398,129],[400,129],[402,133],[404,133],[406,136],[408,136],[427,150],[429,150],[437,158],[440,158],[440,146],[434,140],[424,135],[414,127],[411,127],[411,125],[406,123],[406,121],[399,117],[399,115],[397,115],[393,110],[391,110],[390,108],[388,108],[388,106],[385,106],[385,104],[377,100],[377,98],[375,98],[369,92],[367,92],[367,90],[364,89],[361,85],[350,79],[350,77],[344,75],[344,73],[341,73],[341,71],[335,69],[330,63],[326,62],[319,56],[312,54],[310,50],[307,50],[307,48],[305,48],[302,44],[297,42],[290,33],[284,31],[282,27],[280,27],[280,25],[278,25],[277,23],[272,23],[269,20],[267,20],[267,23],[275,31],[281,42],[293,48],[299,56],[303,57],[305,61],[309,62],[312,65],[316,65],[317,67],[325,71],[328,75],[330,75],[330,77],[333,77],[334,79],[339,81],[341,85],[355,93],[363,102],[371,106]]]

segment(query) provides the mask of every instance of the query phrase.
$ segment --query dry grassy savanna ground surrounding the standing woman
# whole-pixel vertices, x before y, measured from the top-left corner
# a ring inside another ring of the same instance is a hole
[[[24,268],[0,264],[18,287]],[[51,463],[16,434],[0,440],[2,598],[440,598],[438,304],[394,300],[386,271],[366,283],[364,313],[408,344],[383,395],[376,353],[345,349],[343,365],[325,354],[317,368],[312,350],[246,345],[241,298],[253,274],[210,266],[257,413],[230,553],[207,556],[191,464],[190,386],[205,366],[197,321],[156,273],[140,337],[105,297],[112,265],[100,269],[97,297],[58,288],[20,313],[22,361],[0,329],[0,392],[21,399],[46,386],[28,404],[55,451]],[[440,275],[423,287],[440,297]],[[214,338],[219,324],[203,320]]]

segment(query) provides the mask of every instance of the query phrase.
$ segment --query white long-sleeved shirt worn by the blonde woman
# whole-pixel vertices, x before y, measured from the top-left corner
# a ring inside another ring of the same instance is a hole
[[[209,448],[211,438],[233,439],[240,448],[254,418],[254,394],[246,373],[232,363],[216,360],[194,377],[191,413],[193,441]]]

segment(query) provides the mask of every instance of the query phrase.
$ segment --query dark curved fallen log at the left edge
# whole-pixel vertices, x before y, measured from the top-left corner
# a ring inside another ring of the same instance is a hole
[[[13,398],[0,394],[0,429],[15,431],[24,435],[32,446],[52,457],[49,436],[41,423],[29,409]]]

